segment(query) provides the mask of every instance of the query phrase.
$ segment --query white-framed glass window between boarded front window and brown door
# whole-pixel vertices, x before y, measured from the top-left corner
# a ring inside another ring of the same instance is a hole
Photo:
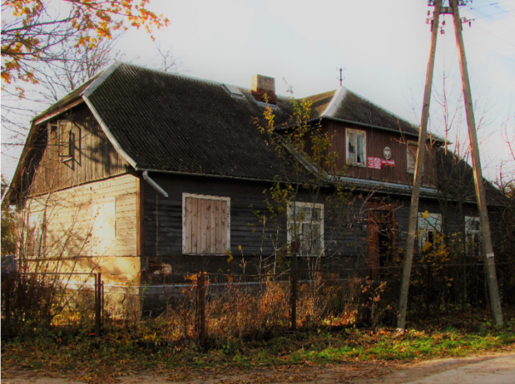
[[[323,204],[288,202],[288,243],[297,256],[323,252]]]

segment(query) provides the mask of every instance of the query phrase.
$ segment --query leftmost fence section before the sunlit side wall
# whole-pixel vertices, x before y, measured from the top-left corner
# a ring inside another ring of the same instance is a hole
[[[9,272],[1,276],[2,337],[54,329],[100,335],[104,283],[100,273]]]

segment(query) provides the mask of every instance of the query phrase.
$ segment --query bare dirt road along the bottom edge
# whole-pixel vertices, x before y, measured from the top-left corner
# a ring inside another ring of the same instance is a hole
[[[515,384],[515,354],[467,357],[424,361],[393,368],[382,361],[343,363],[339,366],[291,367],[249,370],[227,374],[148,374],[126,377],[87,378],[81,380],[45,377],[34,372],[2,372],[3,384],[82,384],[82,383],[139,383],[139,384]]]

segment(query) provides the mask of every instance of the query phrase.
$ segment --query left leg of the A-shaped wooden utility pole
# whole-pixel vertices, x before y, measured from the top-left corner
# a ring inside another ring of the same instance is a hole
[[[427,122],[429,119],[429,104],[431,103],[431,88],[433,88],[433,69],[435,68],[436,39],[438,36],[439,16],[442,8],[442,0],[435,1],[433,21],[431,24],[431,50],[426,72],[426,89],[424,91],[424,106],[422,106],[422,121],[418,135],[417,163],[413,175],[413,193],[411,195],[411,206],[409,208],[408,238],[406,241],[406,253],[402,265],[402,281],[399,296],[399,317],[397,328],[406,326],[406,310],[408,306],[409,281],[411,279],[411,262],[413,261],[413,248],[415,245],[415,233],[417,230],[418,201],[420,199],[420,187],[422,187],[422,169],[424,155],[426,154]]]

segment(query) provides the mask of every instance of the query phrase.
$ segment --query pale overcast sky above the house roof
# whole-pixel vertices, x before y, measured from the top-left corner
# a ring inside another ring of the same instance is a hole
[[[155,32],[156,43],[143,31],[126,33],[118,45],[126,61],[158,65],[157,44],[172,51],[187,75],[250,87],[259,73],[275,77],[279,95],[286,95],[287,82],[295,97],[339,88],[342,67],[343,86],[420,123],[431,38],[426,18],[433,9],[426,0],[151,0],[149,8],[170,26]],[[475,19],[464,39],[483,168],[494,179],[510,159],[503,132],[512,139],[515,132],[515,0],[474,0],[460,13]],[[452,16],[441,21],[435,91],[442,91],[445,69],[456,102],[461,78]],[[432,103],[431,130],[444,136],[442,108]],[[466,140],[466,125],[458,125],[448,132],[454,143]],[[13,162],[2,160],[11,176]]]

